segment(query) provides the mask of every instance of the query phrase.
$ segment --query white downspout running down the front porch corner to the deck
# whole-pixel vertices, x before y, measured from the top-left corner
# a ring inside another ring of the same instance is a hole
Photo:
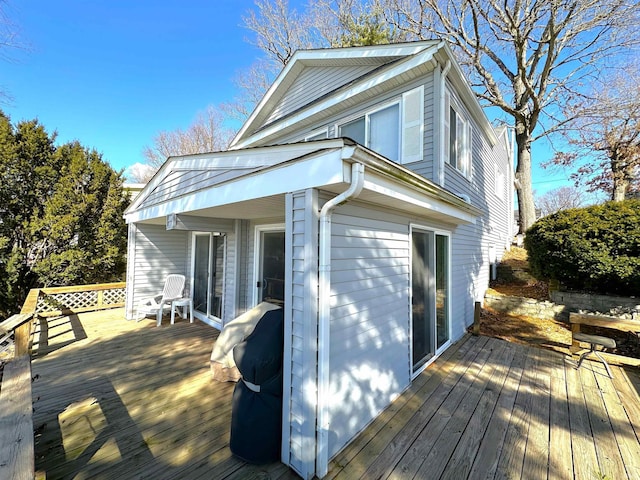
[[[329,343],[331,301],[331,214],[346,201],[356,198],[364,186],[364,165],[351,165],[351,185],[320,210],[320,258],[318,265],[318,418],[316,424],[316,475],[324,477],[329,470]]]

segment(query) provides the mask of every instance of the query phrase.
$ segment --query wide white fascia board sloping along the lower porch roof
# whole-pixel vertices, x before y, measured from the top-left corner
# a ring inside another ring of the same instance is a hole
[[[293,162],[234,178],[223,184],[189,195],[143,208],[125,216],[127,223],[161,218],[253,199],[282,195],[323,185],[334,185],[345,179],[342,151],[334,149]]]

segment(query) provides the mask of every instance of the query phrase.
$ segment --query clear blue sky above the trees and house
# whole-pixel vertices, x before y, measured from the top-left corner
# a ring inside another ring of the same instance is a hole
[[[59,143],[79,140],[116,169],[143,163],[158,132],[186,128],[207,105],[233,98],[233,78],[261,53],[242,26],[253,7],[253,0],[9,0],[29,48],[0,62],[0,90],[12,97],[0,108],[13,122],[38,118]],[[539,144],[534,156],[550,154]],[[538,193],[567,183],[563,172],[533,174]]]

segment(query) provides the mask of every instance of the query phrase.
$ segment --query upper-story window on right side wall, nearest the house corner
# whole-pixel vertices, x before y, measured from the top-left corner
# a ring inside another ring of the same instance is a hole
[[[471,122],[451,99],[445,94],[445,161],[465,177],[471,176]]]

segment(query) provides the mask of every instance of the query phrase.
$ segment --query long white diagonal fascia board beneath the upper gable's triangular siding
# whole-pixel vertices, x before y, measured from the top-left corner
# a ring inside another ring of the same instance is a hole
[[[307,117],[313,116],[317,113],[320,113],[324,110],[334,107],[335,105],[338,105],[344,102],[345,100],[348,100],[351,97],[354,97],[360,93],[366,92],[367,90],[370,90],[393,77],[402,75],[403,73],[409,70],[412,70],[413,68],[416,68],[427,62],[435,63],[433,56],[436,51],[437,50],[435,47],[428,48],[415,56],[407,58],[406,61],[400,62],[398,65],[391,66],[390,68],[385,69],[382,72],[379,72],[378,74],[368,76],[364,80],[354,84],[351,88],[334,93],[333,95],[330,95],[325,100],[318,103],[314,103],[312,106],[303,109],[302,111],[298,112],[295,115],[287,117],[284,120],[275,122],[273,125],[266,128],[265,130],[261,130],[255,135],[245,138],[242,142],[239,142],[233,145],[233,148],[239,149],[239,148],[250,147],[251,145],[255,144],[256,142],[259,142],[265,137],[273,135],[284,128],[295,125]],[[238,136],[237,138],[239,139],[240,136]]]

